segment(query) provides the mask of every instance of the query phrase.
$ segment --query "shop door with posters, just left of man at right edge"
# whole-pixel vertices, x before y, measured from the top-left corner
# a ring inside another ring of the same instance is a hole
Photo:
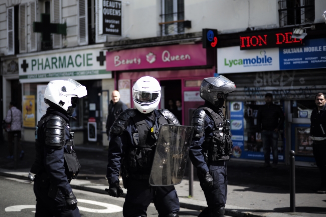
[[[310,138],[310,116],[316,107],[314,100],[289,100],[286,104],[289,113],[287,116],[287,128],[290,132],[288,139],[291,144],[290,149],[295,151],[295,163],[302,166],[315,166]]]

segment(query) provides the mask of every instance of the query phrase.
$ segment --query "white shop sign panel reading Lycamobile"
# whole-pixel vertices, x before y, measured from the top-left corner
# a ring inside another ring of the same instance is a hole
[[[217,49],[218,73],[279,70],[278,48],[240,51],[239,47]]]

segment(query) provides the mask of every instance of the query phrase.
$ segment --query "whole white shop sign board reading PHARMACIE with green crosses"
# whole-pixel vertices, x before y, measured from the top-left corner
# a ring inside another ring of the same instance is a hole
[[[105,70],[105,52],[100,49],[20,55],[18,62],[21,83],[112,78],[111,72]]]

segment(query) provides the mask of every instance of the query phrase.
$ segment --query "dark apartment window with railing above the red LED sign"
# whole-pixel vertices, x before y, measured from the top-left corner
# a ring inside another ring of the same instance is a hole
[[[314,22],[314,0],[283,0],[278,5],[281,27]]]

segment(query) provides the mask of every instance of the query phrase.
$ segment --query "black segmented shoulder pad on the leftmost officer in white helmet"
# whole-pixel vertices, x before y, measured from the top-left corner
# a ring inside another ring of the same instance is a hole
[[[45,144],[59,149],[65,145],[65,121],[62,117],[53,115],[45,119]]]

